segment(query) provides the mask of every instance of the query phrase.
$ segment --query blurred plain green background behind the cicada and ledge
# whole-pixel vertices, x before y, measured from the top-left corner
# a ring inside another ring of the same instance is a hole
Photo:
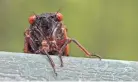
[[[105,59],[138,60],[138,0],[0,0],[0,50],[23,52],[28,17],[61,8],[68,35]],[[71,43],[71,56],[84,53]]]

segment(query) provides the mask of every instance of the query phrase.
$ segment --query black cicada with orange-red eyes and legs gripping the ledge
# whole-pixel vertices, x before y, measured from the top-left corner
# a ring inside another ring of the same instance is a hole
[[[58,55],[62,67],[62,56],[69,56],[71,42],[74,42],[86,56],[101,59],[100,56],[88,52],[77,40],[68,37],[68,29],[60,12],[34,14],[28,20],[30,26],[24,32],[24,53],[46,55],[55,74],[55,64],[50,55]]]

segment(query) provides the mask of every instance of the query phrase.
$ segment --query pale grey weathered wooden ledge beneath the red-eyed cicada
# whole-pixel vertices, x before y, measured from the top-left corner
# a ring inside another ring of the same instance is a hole
[[[138,62],[63,57],[60,67],[57,56],[57,76],[42,55],[0,52],[0,81],[138,81]]]

